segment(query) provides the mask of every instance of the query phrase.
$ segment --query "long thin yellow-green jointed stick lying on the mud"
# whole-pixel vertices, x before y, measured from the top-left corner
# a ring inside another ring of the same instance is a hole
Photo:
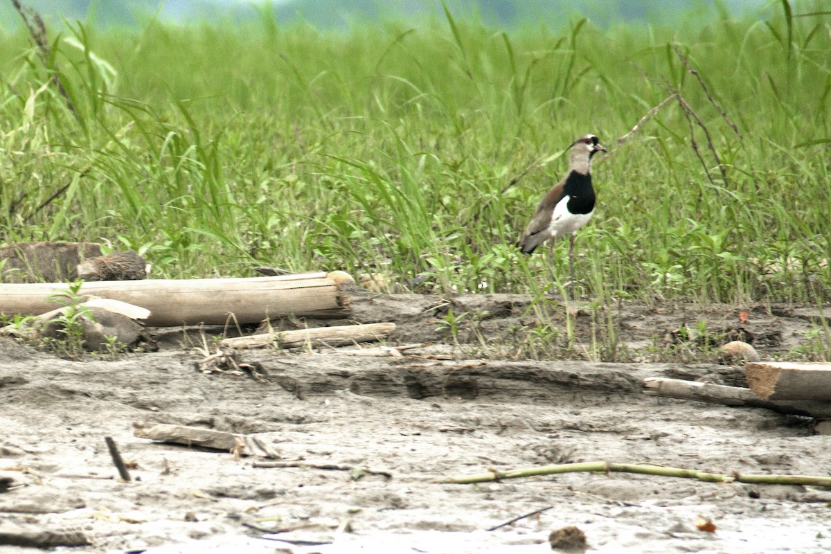
[[[612,462],[586,462],[586,463],[558,463],[538,468],[511,469],[509,471],[491,471],[490,473],[479,473],[467,477],[438,479],[434,483],[487,483],[502,479],[519,477],[534,477],[537,475],[552,475],[554,473],[642,473],[644,475],[659,475],[662,477],[678,477],[687,479],[698,479],[707,483],[766,483],[766,484],[789,484],[789,485],[814,485],[818,487],[831,487],[831,477],[816,477],[811,475],[741,475],[733,473],[725,475],[722,473],[706,473],[697,469],[668,468],[665,466],[645,465],[642,463],[612,463]]]

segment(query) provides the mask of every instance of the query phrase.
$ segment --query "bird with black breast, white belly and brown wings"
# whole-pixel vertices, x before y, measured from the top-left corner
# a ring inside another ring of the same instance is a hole
[[[571,283],[574,283],[574,236],[577,230],[594,214],[594,187],[592,186],[592,157],[597,152],[607,152],[596,135],[583,135],[571,146],[568,173],[540,200],[534,217],[525,228],[517,246],[525,254],[531,254],[548,239],[570,233],[568,267]],[[568,150],[567,149],[567,150]],[[553,270],[553,240],[548,244],[548,270],[556,281]]]

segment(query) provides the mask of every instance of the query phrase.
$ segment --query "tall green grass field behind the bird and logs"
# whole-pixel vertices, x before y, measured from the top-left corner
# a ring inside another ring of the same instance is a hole
[[[593,132],[614,152],[578,236],[584,295],[829,300],[831,14],[799,15],[512,32],[450,12],[347,33],[264,12],[249,27],[67,22],[45,63],[2,35],[2,241],[109,240],[155,277],[272,265],[538,293],[546,258],[513,243],[558,154]],[[669,101],[617,148],[671,91],[702,125]]]

